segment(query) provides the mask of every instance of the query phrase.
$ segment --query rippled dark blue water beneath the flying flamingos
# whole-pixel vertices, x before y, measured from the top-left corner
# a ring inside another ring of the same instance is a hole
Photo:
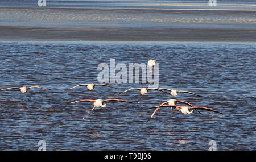
[[[0,42],[0,88],[39,85],[51,90],[0,91],[0,149],[37,150],[217,150],[256,149],[255,43]],[[148,84],[111,84],[67,90],[97,82],[97,66],[159,63],[159,87],[189,90],[175,97],[221,111],[182,114],[163,108],[146,123],[153,106],[172,98],[162,92],[122,90]],[[96,108],[79,99],[122,98]]]

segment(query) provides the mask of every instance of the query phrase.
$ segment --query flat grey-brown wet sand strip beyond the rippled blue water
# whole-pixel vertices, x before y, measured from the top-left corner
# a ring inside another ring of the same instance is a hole
[[[251,10],[0,7],[0,40],[255,42]]]

